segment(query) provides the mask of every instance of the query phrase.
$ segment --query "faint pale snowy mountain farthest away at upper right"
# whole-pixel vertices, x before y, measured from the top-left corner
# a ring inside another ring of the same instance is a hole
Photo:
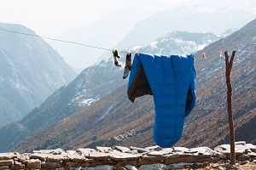
[[[218,35],[230,28],[240,29],[255,18],[256,3],[253,0],[184,0],[176,8],[138,22],[117,48],[153,42],[170,31],[207,31]]]

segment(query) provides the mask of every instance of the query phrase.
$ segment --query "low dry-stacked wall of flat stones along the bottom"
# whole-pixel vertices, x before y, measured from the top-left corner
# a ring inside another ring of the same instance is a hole
[[[161,164],[172,168],[207,165],[209,162],[227,161],[230,158],[230,144],[222,144],[214,150],[208,147],[188,149],[185,147],[148,148],[96,147],[96,150],[34,150],[32,153],[0,153],[0,169],[94,169],[106,166],[108,169],[140,169],[145,165]],[[236,160],[256,163],[256,145],[236,142]],[[129,165],[129,166],[128,166]],[[128,166],[128,167],[127,167]],[[126,168],[125,168],[126,167]],[[99,168],[101,169],[101,168]],[[103,168],[102,168],[103,169]]]

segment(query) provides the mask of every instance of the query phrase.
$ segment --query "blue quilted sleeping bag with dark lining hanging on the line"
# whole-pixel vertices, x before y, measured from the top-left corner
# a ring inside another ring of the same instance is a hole
[[[195,106],[194,54],[135,54],[127,94],[131,102],[154,96],[154,142],[172,147],[183,133],[184,117]]]

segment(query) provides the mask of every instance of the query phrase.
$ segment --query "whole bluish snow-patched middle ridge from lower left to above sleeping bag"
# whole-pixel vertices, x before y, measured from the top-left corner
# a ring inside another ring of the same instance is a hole
[[[177,48],[180,48],[180,53],[188,53],[205,47],[218,38],[211,33],[172,32],[154,41],[154,46],[144,44],[133,48],[139,48],[141,51],[147,50],[148,53],[157,52],[158,49],[165,54],[177,53]],[[165,48],[169,44],[172,46]],[[124,59],[125,57],[122,57],[120,61],[124,62]],[[123,71],[123,67],[113,65],[113,57],[88,67],[73,82],[55,91],[55,94],[52,94],[40,107],[34,109],[20,122],[1,128],[0,150],[9,150],[51,123],[81,111],[87,105],[119,88],[127,82],[127,79],[122,78]]]

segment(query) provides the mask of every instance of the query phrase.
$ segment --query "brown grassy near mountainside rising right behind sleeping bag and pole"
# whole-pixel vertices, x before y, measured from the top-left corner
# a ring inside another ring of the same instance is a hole
[[[255,144],[256,111],[256,20],[229,37],[213,42],[195,54],[197,69],[197,102],[186,118],[182,139],[176,146],[196,147],[229,143],[226,106],[224,57],[220,51],[236,50],[232,70],[233,114],[236,140]],[[207,59],[201,59],[205,52]],[[230,54],[229,53],[229,54]],[[127,84],[60,122],[24,140],[12,150],[20,152],[61,147],[137,146],[147,147],[152,140],[154,101],[143,96],[131,103],[126,95]]]

